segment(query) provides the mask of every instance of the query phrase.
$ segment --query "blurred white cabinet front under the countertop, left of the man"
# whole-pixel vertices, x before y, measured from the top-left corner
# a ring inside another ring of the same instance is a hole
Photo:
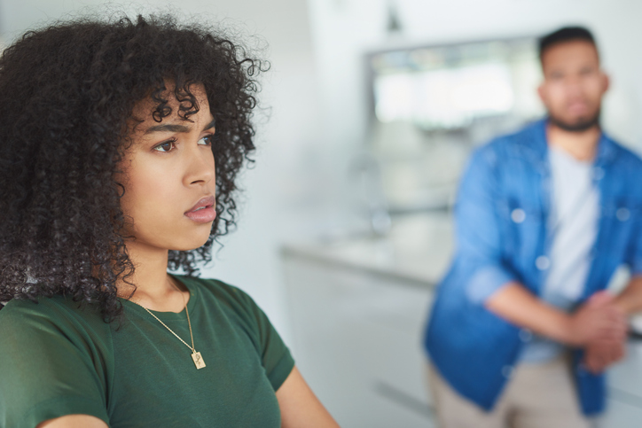
[[[430,427],[422,332],[428,287],[288,255],[294,358],[339,424]]]

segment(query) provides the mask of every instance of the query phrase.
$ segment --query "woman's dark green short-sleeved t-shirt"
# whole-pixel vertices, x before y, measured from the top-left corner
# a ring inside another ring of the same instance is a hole
[[[275,391],[294,360],[267,316],[238,288],[175,276],[191,293],[192,351],[143,307],[122,300],[119,326],[64,297],[0,310],[0,427],[71,414],[112,428],[278,427]],[[185,312],[154,312],[188,344]]]

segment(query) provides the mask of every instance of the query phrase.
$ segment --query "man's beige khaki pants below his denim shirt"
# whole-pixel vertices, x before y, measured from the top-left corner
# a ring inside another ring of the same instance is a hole
[[[456,393],[427,363],[430,393],[440,428],[589,428],[575,393],[568,359],[522,363],[492,411]]]

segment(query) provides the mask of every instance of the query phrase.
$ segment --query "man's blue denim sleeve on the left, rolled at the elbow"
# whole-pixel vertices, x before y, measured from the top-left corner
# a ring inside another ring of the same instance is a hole
[[[466,279],[466,296],[479,304],[516,281],[502,261],[497,175],[497,154],[492,146],[475,151],[460,183],[455,207],[458,257],[472,272]]]

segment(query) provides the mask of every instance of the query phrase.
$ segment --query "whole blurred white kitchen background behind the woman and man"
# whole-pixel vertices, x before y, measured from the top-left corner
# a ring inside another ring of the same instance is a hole
[[[203,276],[254,297],[344,427],[434,426],[420,340],[453,195],[475,145],[542,116],[538,35],[591,28],[604,128],[642,152],[635,0],[0,0],[0,38],[97,11],[220,22],[270,60],[238,230]],[[638,426],[636,343],[609,382],[601,426]]]

